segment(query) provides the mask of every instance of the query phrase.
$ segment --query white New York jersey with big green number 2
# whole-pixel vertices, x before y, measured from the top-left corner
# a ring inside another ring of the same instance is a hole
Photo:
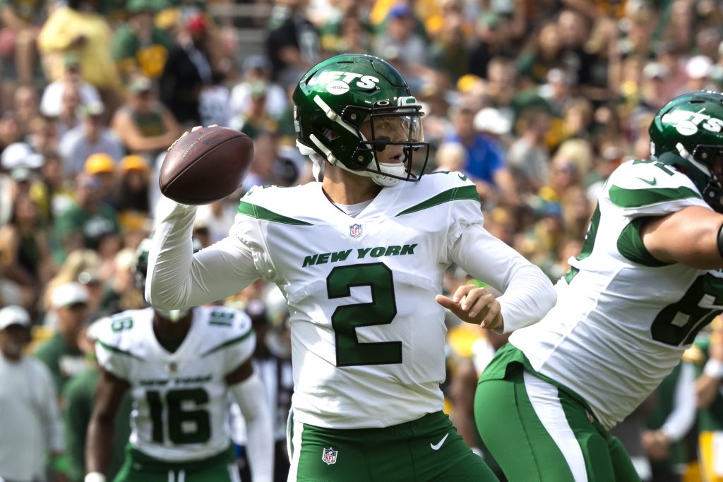
[[[241,199],[231,234],[288,301],[299,421],[367,428],[442,410],[435,295],[451,246],[474,223],[479,196],[461,173],[382,189],[355,218],[320,183],[254,187]]]

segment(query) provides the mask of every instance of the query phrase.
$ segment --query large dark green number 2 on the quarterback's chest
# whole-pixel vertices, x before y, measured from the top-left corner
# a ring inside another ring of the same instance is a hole
[[[390,324],[397,315],[392,270],[384,263],[335,267],[326,278],[329,299],[351,296],[351,288],[369,286],[372,301],[338,306],[331,316],[336,336],[336,366],[402,362],[401,341],[359,343],[356,329]]]

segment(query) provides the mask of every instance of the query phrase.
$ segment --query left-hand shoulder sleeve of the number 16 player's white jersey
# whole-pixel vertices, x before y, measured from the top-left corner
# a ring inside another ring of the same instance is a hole
[[[95,327],[95,358],[98,365],[124,380],[129,379],[132,360],[137,358],[131,351],[132,343],[127,336],[129,319],[116,315],[98,320],[98,326]]]

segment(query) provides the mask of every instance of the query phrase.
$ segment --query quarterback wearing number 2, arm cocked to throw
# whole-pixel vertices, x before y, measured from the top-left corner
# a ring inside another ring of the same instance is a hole
[[[442,306],[509,331],[547,312],[552,283],[484,230],[466,176],[422,176],[421,106],[386,61],[327,59],[293,98],[299,150],[323,180],[252,189],[230,236],[195,255],[195,208],[170,207],[147,298],[174,309],[259,277],[281,288],[294,366],[290,481],[495,480],[442,413]],[[451,262],[504,294],[469,285],[437,296]]]

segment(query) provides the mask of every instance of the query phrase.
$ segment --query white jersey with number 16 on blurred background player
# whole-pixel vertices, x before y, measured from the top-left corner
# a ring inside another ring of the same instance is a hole
[[[169,353],[155,337],[153,314],[103,319],[95,345],[100,366],[131,385],[130,442],[168,462],[217,455],[229,444],[225,377],[254,352],[251,320],[221,306],[194,308],[183,343]]]

